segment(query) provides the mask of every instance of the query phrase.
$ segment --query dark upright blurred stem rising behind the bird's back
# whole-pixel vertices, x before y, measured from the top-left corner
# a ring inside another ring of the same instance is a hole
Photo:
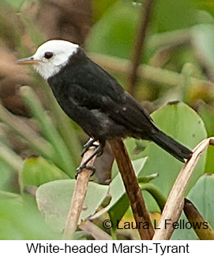
[[[134,86],[137,82],[137,69],[141,62],[143,48],[145,46],[145,36],[148,28],[148,22],[152,13],[152,4],[154,0],[145,0],[142,5],[141,17],[138,25],[137,39],[133,48],[133,55],[130,67],[130,75],[128,77],[127,90],[130,94],[134,94]]]

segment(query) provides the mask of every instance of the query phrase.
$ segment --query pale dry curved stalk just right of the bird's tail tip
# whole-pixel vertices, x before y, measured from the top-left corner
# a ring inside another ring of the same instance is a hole
[[[167,198],[167,203],[163,208],[162,215],[158,224],[158,228],[153,237],[154,240],[167,240],[171,238],[174,231],[172,225],[165,227],[165,220],[171,220],[171,223],[178,221],[181,216],[183,205],[184,205],[184,193],[187,185],[192,177],[193,170],[197,165],[197,161],[200,155],[206,151],[208,145],[214,145],[214,137],[204,139],[193,149],[193,155],[191,159],[186,162],[182,170],[178,174],[177,179],[171,189],[171,193]]]

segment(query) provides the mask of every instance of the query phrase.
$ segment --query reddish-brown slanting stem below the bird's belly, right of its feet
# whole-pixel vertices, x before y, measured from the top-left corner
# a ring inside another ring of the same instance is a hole
[[[122,139],[111,140],[111,149],[115,155],[118,169],[122,176],[123,183],[126,188],[127,196],[130,199],[130,205],[133,210],[133,216],[138,224],[138,232],[142,240],[151,240],[154,234],[152,222],[148,215],[147,209],[145,208],[145,201],[142,197],[141,188],[137,182],[137,177],[133,170],[132,163],[126,147],[122,142]],[[148,229],[142,228],[139,224],[148,224]]]

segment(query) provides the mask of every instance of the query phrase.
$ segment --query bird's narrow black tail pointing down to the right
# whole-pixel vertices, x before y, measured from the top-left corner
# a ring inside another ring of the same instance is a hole
[[[175,139],[167,136],[164,132],[157,131],[152,134],[151,139],[154,143],[162,147],[165,151],[173,155],[176,159],[181,162],[185,162],[184,159],[190,159],[193,154],[189,148],[178,143]]]

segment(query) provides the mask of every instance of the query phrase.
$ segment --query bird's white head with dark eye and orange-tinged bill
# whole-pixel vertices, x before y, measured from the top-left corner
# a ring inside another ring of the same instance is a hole
[[[68,63],[69,57],[77,52],[78,44],[66,40],[49,40],[40,45],[29,58],[19,59],[18,64],[32,64],[43,78],[56,75]]]

